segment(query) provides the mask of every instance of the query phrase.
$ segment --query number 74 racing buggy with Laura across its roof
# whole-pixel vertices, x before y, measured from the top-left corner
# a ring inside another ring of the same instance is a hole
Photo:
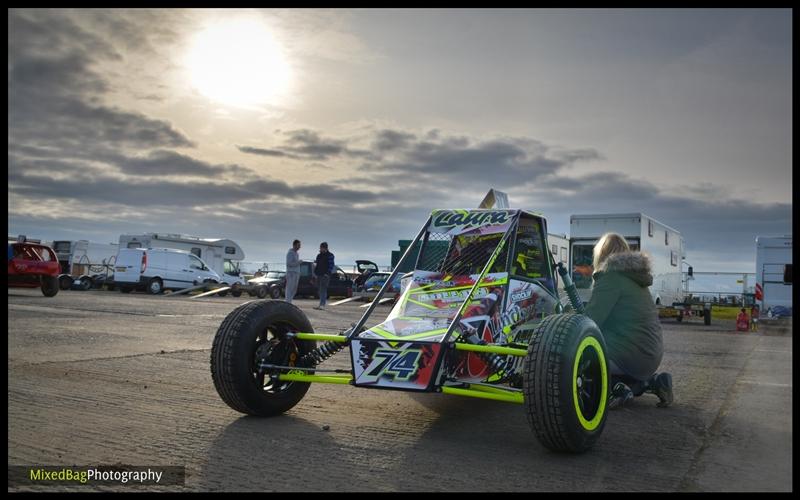
[[[545,219],[524,210],[434,210],[351,328],[315,333],[285,302],[232,311],[211,350],[217,392],[260,416],[294,407],[311,383],[517,403],[544,446],[586,451],[605,425],[606,346],[546,237]],[[412,260],[388,317],[372,320]],[[576,313],[563,312],[556,270]],[[349,370],[321,368],[345,348]]]

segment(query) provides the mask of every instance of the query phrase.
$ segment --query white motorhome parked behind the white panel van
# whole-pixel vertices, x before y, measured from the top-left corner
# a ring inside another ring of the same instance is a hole
[[[222,278],[226,285],[245,285],[241,276],[240,262],[244,250],[228,239],[204,239],[197,236],[171,233],[122,234],[120,248],[174,248],[185,250],[203,261]]]

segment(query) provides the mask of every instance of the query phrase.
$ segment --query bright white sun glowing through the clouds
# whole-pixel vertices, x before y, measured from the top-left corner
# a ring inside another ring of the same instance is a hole
[[[257,19],[220,21],[199,31],[185,62],[200,93],[231,106],[275,104],[290,83],[282,47]]]

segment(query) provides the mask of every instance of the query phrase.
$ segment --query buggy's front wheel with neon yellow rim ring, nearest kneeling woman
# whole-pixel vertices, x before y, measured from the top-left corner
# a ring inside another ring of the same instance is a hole
[[[594,321],[555,314],[537,327],[524,363],[528,423],[553,451],[582,453],[606,422],[609,373],[606,344]]]

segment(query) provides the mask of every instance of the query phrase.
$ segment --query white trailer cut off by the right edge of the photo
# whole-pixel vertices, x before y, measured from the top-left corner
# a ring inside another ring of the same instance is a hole
[[[762,317],[776,306],[791,310],[792,235],[756,237],[756,300]]]

